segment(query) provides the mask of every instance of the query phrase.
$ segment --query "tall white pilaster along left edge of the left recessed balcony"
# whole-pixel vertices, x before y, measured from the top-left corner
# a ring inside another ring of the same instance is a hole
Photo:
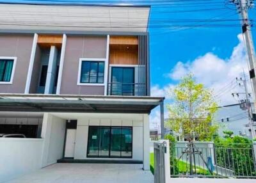
[[[34,61],[35,61],[37,39],[38,39],[38,35],[35,33],[34,39],[33,39],[33,44],[32,44],[32,49],[31,49],[31,54],[30,54],[30,60],[29,60],[28,75],[27,75],[26,86],[25,86],[25,91],[24,91],[25,94],[29,93],[31,76],[32,76],[32,72],[33,72],[33,65],[34,65]]]

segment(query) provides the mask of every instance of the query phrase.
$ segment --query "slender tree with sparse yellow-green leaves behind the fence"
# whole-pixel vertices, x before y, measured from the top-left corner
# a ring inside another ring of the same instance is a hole
[[[218,127],[212,124],[217,104],[212,91],[196,83],[192,74],[183,77],[170,90],[173,102],[168,105],[169,120],[166,127],[186,136],[197,136],[199,140],[211,140]]]

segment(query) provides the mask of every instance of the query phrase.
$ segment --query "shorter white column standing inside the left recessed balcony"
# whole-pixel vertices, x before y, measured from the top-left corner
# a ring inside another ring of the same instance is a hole
[[[56,48],[56,46],[51,46],[44,94],[52,93],[52,87],[54,84],[54,75],[56,72],[57,54],[58,54],[58,49]]]

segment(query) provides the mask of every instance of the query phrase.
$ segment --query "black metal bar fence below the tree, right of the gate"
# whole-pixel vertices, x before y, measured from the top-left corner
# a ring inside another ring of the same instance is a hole
[[[253,145],[223,147],[206,144],[204,147],[187,143],[177,147],[170,143],[171,177],[212,177],[256,179]]]

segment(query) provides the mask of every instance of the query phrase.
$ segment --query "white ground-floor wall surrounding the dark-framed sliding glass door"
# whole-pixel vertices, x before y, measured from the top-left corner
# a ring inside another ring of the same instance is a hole
[[[97,116],[97,115],[96,115]],[[129,118],[130,116],[130,118]],[[142,116],[142,115],[141,115]],[[143,120],[132,115],[101,115],[100,118],[78,118],[76,131],[76,147],[74,159],[90,159],[86,157],[89,125],[132,127],[132,160],[143,160]],[[95,158],[93,158],[95,159]],[[100,158],[102,159],[102,158]],[[127,159],[127,158],[126,158]]]

